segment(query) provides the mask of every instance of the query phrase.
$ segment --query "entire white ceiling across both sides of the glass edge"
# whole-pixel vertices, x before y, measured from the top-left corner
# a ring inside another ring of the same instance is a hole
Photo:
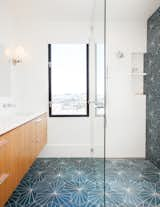
[[[6,0],[15,18],[57,22],[102,21],[104,0]],[[112,20],[146,20],[160,0],[107,0],[107,17]]]

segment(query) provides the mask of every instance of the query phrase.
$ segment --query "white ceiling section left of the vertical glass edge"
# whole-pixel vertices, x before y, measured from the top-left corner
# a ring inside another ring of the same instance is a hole
[[[18,19],[59,22],[90,21],[96,5],[96,19],[104,17],[103,0],[8,0],[10,10]]]

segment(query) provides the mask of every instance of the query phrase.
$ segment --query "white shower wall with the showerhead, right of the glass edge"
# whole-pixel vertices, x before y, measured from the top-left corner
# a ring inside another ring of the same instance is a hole
[[[146,52],[145,22],[108,22],[107,157],[145,157],[146,98],[132,90],[131,53]],[[117,58],[118,51],[124,58]]]

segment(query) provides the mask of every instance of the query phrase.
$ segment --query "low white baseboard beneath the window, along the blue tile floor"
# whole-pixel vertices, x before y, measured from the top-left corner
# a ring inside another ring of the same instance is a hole
[[[91,153],[89,145],[46,145],[39,157],[104,157],[104,147],[95,146]]]

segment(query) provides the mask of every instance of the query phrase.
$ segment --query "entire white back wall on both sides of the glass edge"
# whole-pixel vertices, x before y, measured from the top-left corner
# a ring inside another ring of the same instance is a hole
[[[12,94],[19,110],[48,110],[47,44],[86,42],[88,25],[84,23],[16,22],[15,45],[22,45],[28,56],[14,70]],[[109,39],[108,39],[109,38]],[[131,52],[145,52],[144,22],[112,22],[107,37],[109,46],[107,157],[145,156],[145,97],[131,91]],[[122,50],[125,58],[115,53]],[[93,54],[92,54],[93,55]],[[93,57],[93,56],[92,56]],[[94,67],[91,73],[94,96]],[[92,111],[93,114],[93,111]],[[92,115],[93,116],[93,115]],[[94,131],[95,130],[95,131]],[[93,143],[94,139],[94,143]],[[103,156],[103,120],[92,118],[49,118],[48,144],[41,156],[90,156],[95,144],[96,156]]]

